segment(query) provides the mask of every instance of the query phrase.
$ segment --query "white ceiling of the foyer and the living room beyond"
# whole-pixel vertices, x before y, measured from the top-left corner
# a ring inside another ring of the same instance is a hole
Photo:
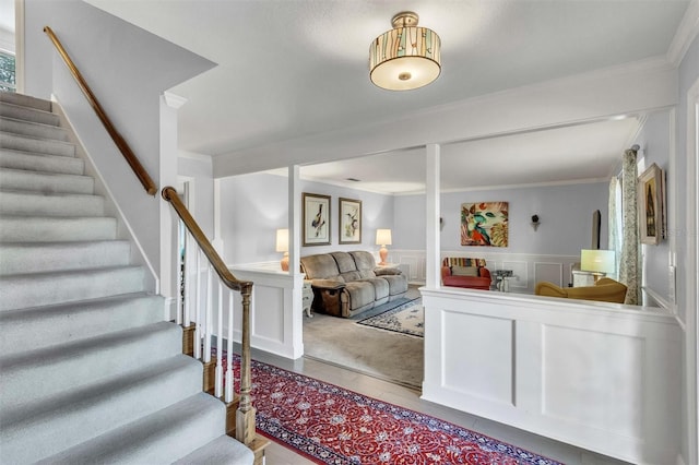
[[[8,1],[0,0],[0,7]],[[213,156],[663,57],[689,3],[87,1],[218,63],[171,90],[188,99],[179,109],[180,147]],[[442,72],[426,87],[396,93],[370,83],[368,48],[402,10],[417,12],[419,24],[440,35]],[[604,178],[628,147],[638,122],[609,120],[446,145],[441,184],[458,189]],[[422,159],[417,151],[406,151],[304,167],[301,174],[340,183],[357,178],[362,182],[352,183],[354,188],[406,192],[424,184]],[[379,169],[381,164],[390,169]]]

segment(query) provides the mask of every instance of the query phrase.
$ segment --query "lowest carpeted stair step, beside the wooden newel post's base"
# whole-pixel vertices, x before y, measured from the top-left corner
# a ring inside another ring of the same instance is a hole
[[[158,465],[181,460],[182,464],[251,464],[252,452],[224,436],[224,422],[223,403],[199,393],[39,463]],[[212,455],[218,458],[222,451],[225,462],[208,460]]]

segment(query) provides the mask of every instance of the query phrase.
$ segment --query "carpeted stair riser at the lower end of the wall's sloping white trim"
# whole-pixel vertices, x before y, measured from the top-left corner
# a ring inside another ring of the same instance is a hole
[[[26,273],[0,281],[0,311],[143,291],[142,266]]]

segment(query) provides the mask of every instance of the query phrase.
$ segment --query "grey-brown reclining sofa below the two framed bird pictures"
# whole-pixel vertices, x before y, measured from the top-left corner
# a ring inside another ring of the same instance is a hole
[[[350,318],[407,293],[407,277],[398,269],[377,267],[370,252],[319,253],[300,262],[316,311]]]

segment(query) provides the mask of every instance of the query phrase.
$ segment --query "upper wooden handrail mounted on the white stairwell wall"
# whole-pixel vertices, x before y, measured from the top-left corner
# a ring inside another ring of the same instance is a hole
[[[61,44],[61,41],[58,39],[58,37],[56,37],[56,34],[54,34],[54,31],[51,31],[49,26],[44,27],[44,32],[46,33],[46,35],[48,35],[48,38],[54,43],[54,46],[58,50],[58,53],[61,56],[61,58],[63,58],[66,65],[68,67],[69,71],[78,82],[80,90],[83,92],[83,94],[87,98],[87,102],[92,106],[93,110],[95,110],[95,112],[97,114],[97,117],[104,124],[109,135],[111,135],[114,143],[117,144],[117,147],[126,158],[127,163],[135,174],[137,178],[139,178],[139,180],[141,181],[141,184],[143,184],[143,188],[145,189],[145,191],[149,193],[149,195],[155,195],[157,193],[157,188],[155,187],[155,182],[153,182],[153,179],[151,178],[149,172],[145,170],[143,165],[141,165],[141,162],[139,162],[137,156],[133,154],[133,151],[131,150],[129,144],[127,144],[127,141],[121,136],[121,134],[119,134],[119,131],[117,131],[117,129],[114,127],[114,124],[111,123],[111,120],[109,119],[105,110],[102,108],[102,105],[99,105],[99,102],[95,97],[95,94],[93,94],[92,91],[90,90],[90,86],[87,85],[82,74],[75,67],[75,63],[73,63],[73,60],[71,60],[70,56],[63,48],[63,45]]]

